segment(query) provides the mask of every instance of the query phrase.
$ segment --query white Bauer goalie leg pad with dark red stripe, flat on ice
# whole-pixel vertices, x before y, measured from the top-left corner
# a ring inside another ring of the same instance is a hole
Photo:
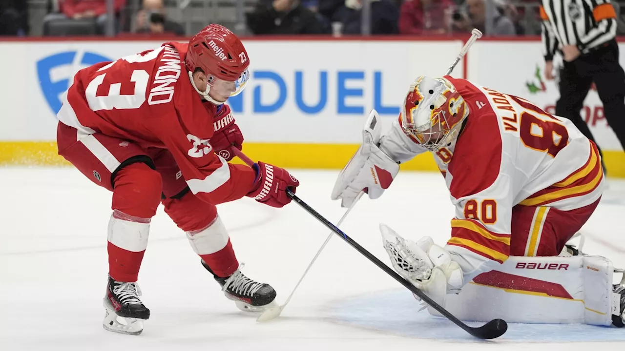
[[[444,307],[462,320],[611,325],[614,267],[600,256],[511,256],[477,275]],[[429,308],[432,315],[440,315]]]

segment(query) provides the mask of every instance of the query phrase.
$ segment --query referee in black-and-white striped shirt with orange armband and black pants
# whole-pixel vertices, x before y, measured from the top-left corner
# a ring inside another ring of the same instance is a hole
[[[547,79],[553,79],[555,52],[564,57],[556,115],[570,119],[594,141],[580,114],[594,82],[607,124],[625,147],[625,72],[619,64],[619,47],[614,39],[614,7],[609,0],[542,0],[540,12]]]

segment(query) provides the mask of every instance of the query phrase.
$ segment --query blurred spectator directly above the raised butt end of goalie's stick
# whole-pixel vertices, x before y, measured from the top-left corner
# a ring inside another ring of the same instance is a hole
[[[516,34],[512,20],[501,14],[492,0],[467,0],[466,3],[468,18],[466,16],[454,17],[454,27],[459,31],[470,32],[471,29],[477,28],[487,36],[514,36]],[[486,11],[487,6],[491,11]],[[487,17],[490,17],[492,22],[489,30],[486,30]]]

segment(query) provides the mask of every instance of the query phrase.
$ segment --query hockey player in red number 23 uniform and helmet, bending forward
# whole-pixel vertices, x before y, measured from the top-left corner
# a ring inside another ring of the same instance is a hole
[[[159,204],[237,307],[261,312],[276,297],[241,273],[215,206],[248,196],[282,207],[287,187],[299,185],[264,162],[227,163],[243,136],[224,102],[244,88],[248,66],[239,38],[211,24],[188,44],[166,42],[74,77],[58,113],[59,154],[113,192],[105,329],[139,334],[149,318],[136,282]]]

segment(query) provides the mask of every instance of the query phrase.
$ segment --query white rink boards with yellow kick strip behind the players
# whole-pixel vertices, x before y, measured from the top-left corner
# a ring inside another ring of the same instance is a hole
[[[284,167],[341,168],[361,141],[369,110],[390,124],[410,82],[420,74],[444,74],[462,39],[245,40],[252,79],[229,101],[246,138],[244,151]],[[74,73],[166,41],[0,41],[0,52],[8,53],[0,57],[0,164],[63,164],[54,144],[56,111]],[[622,55],[621,61],[625,65]],[[554,112],[559,92],[542,78],[543,65],[536,39],[481,39],[452,76]],[[589,92],[582,116],[604,150],[609,174],[625,177],[625,153],[606,124],[596,91]],[[436,170],[429,155],[402,167]]]

